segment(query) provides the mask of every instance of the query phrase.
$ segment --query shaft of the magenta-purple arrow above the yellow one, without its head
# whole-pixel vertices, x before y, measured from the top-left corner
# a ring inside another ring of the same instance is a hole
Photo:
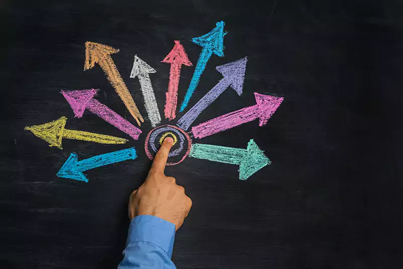
[[[106,105],[100,103],[98,100],[91,99],[91,101],[87,104],[87,109],[109,124],[115,126],[124,133],[127,133],[132,139],[139,139],[140,133],[142,133],[139,128],[122,118],[119,114]]]

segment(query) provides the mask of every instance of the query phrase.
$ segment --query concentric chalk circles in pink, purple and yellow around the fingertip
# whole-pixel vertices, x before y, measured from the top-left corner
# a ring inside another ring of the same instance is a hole
[[[154,155],[157,153],[158,149],[155,146],[157,136],[161,133],[167,133],[167,132],[173,132],[176,134],[176,136],[179,137],[179,147],[175,150],[172,150],[169,154],[168,157],[175,157],[179,156],[179,154],[183,154],[182,158],[178,162],[167,162],[166,165],[176,165],[178,163],[181,163],[190,153],[190,148],[192,145],[192,140],[189,137],[189,134],[185,132],[184,130],[172,126],[172,125],[161,125],[158,126],[154,129],[152,129],[146,137],[146,141],[144,143],[144,150],[146,151],[146,155],[150,160],[154,160]],[[187,147],[184,147],[185,142],[187,143]],[[154,151],[154,154],[152,154],[149,150],[149,147]],[[184,152],[184,153],[183,153]]]

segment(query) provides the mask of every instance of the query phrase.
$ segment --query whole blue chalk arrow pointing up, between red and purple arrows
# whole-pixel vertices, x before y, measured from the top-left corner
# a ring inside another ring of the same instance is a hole
[[[224,35],[226,34],[224,33],[224,25],[224,22],[218,22],[216,23],[216,28],[209,33],[200,37],[192,38],[192,42],[203,47],[203,49],[201,49],[196,68],[194,69],[193,77],[190,81],[189,87],[187,88],[185,98],[180,106],[180,112],[183,112],[189,103],[190,97],[196,89],[200,76],[205,71],[206,64],[211,55],[214,53],[217,56],[224,57]]]

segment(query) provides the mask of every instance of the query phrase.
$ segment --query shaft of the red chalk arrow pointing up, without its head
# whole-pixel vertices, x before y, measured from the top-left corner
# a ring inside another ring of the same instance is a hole
[[[165,118],[168,118],[169,120],[172,120],[176,117],[175,111],[178,104],[178,87],[181,68],[182,64],[173,63],[171,64],[171,69],[169,72],[168,91],[166,92],[164,110]]]

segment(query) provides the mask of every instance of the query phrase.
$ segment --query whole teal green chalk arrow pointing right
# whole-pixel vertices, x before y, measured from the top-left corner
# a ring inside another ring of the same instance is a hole
[[[193,144],[190,157],[209,160],[213,162],[239,165],[239,179],[248,177],[272,162],[259,149],[251,139],[245,149],[229,148],[215,145]]]

